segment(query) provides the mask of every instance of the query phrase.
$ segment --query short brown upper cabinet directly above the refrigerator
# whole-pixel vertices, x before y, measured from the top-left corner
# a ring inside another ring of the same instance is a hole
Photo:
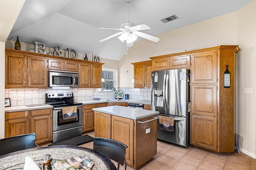
[[[162,55],[157,57],[150,57],[152,59],[152,70],[171,70],[178,68],[190,68],[190,55]]]

